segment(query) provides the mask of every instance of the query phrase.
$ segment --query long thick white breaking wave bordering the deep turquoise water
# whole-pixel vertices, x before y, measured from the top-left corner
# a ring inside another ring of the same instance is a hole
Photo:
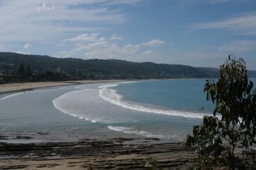
[[[150,107],[144,107],[142,105],[129,104],[124,102],[122,95],[116,93],[115,89],[102,88],[99,90],[100,97],[104,100],[110,102],[111,104],[119,105],[124,107],[125,109],[131,109],[134,111],[141,112],[152,112],[156,114],[166,114],[170,116],[182,116],[186,118],[204,118],[204,115],[209,114],[201,114],[196,112],[184,112],[184,111],[171,111],[171,110],[163,110],[163,109],[154,109]]]

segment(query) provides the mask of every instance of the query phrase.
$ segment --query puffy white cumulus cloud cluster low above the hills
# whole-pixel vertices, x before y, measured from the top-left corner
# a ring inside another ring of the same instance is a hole
[[[115,37],[118,37],[114,35]],[[111,41],[111,38],[100,37],[99,34],[83,34],[74,38],[68,38],[67,41],[76,43],[76,48],[70,52],[61,52],[57,54],[61,57],[79,56],[84,59],[126,59],[134,60],[138,56],[141,45],[127,44],[119,46]],[[78,43],[77,43],[78,42]]]

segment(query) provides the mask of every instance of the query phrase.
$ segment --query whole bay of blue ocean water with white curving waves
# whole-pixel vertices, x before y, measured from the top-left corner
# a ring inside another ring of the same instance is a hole
[[[254,79],[253,79],[254,81]],[[83,84],[0,96],[0,134],[34,141],[157,137],[183,141],[212,115],[205,79]],[[203,108],[203,109],[202,109]],[[43,135],[42,135],[43,134]]]

